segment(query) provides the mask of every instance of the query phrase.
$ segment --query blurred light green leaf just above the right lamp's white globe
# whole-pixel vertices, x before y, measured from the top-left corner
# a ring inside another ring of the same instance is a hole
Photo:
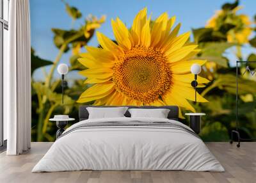
[[[200,44],[200,49],[202,49],[202,54],[200,54],[200,59],[214,61],[222,67],[228,67],[228,60],[223,56],[223,53],[229,47],[232,47],[236,44],[227,43],[227,42],[211,42]]]

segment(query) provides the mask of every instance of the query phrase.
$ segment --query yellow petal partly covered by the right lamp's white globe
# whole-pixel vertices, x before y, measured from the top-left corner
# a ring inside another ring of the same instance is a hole
[[[190,72],[191,65],[197,63],[204,65],[206,60],[189,60],[189,61],[176,61],[170,64],[170,70],[173,74],[188,74]]]

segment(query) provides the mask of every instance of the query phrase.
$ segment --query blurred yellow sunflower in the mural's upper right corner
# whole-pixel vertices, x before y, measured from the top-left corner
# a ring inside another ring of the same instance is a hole
[[[207,21],[206,28],[213,28],[220,31],[224,24],[232,25],[233,28],[227,32],[227,40],[230,43],[246,44],[249,36],[252,34],[250,28],[252,22],[247,15],[237,15],[237,11],[241,10],[241,6],[237,6],[233,10],[218,10],[216,14]]]

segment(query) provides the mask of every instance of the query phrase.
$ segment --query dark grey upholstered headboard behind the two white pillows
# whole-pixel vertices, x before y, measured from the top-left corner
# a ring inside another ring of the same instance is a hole
[[[79,107],[79,121],[87,120],[89,113],[86,107],[120,107],[120,106],[80,106]],[[168,119],[170,120],[179,120],[179,107],[177,106],[125,106],[131,108],[140,108],[140,109],[157,109],[157,108],[164,108],[170,109],[168,114]],[[131,114],[127,110],[124,114],[126,117],[130,117]]]

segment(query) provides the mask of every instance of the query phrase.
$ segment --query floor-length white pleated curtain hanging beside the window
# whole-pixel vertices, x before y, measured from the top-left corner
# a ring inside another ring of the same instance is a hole
[[[8,60],[4,63],[4,120],[8,155],[31,144],[31,56],[29,0],[10,1]]]

